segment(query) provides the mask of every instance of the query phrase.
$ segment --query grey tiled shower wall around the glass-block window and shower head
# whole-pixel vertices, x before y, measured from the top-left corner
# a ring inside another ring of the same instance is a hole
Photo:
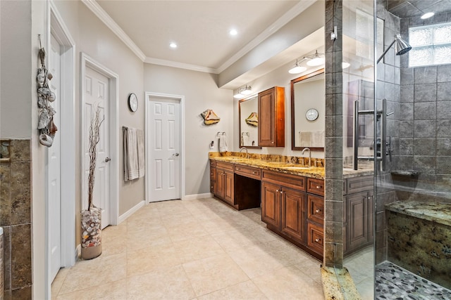
[[[400,33],[409,41],[409,26],[450,22],[451,14],[428,20],[397,18],[377,1],[384,20],[384,49]],[[394,48],[394,47],[393,47]],[[376,95],[387,98],[387,135],[393,140],[393,161],[377,178],[376,263],[387,259],[385,204],[397,200],[451,202],[451,65],[409,67],[409,53],[388,51],[378,64]],[[416,170],[415,177],[392,176],[392,170]]]

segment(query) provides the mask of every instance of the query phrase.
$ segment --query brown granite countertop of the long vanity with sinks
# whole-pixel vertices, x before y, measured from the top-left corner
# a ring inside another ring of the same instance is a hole
[[[230,162],[233,164],[239,164],[242,166],[256,167],[259,169],[277,171],[285,174],[292,174],[310,178],[324,179],[324,167],[308,167],[302,164],[295,164],[286,161],[257,159],[257,158],[245,158],[239,155],[225,155],[216,156],[210,155],[210,159],[214,159],[218,162]],[[313,159],[312,159],[312,163]],[[343,178],[352,178],[357,176],[372,175],[373,169],[369,167],[360,168],[359,170],[353,170],[345,168],[343,169]]]

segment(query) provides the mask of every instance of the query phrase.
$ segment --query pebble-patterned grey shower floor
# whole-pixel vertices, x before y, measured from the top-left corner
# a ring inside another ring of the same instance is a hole
[[[375,299],[448,300],[451,291],[385,261],[376,266]]]

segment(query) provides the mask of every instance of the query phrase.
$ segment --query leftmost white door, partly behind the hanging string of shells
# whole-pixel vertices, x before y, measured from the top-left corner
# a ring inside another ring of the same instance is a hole
[[[56,110],[54,123],[60,127],[60,65],[61,54],[58,41],[51,36],[51,51],[49,51],[48,70],[53,75],[49,87],[54,91],[56,100],[51,107]],[[61,138],[60,131],[56,131],[54,142],[47,148],[47,201],[49,205],[49,244],[50,244],[50,280],[53,281],[61,268]]]

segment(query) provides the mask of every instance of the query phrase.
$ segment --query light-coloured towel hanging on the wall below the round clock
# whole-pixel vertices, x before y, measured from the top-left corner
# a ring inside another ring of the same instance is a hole
[[[136,129],[123,129],[124,136],[124,180],[138,178],[138,152]]]

